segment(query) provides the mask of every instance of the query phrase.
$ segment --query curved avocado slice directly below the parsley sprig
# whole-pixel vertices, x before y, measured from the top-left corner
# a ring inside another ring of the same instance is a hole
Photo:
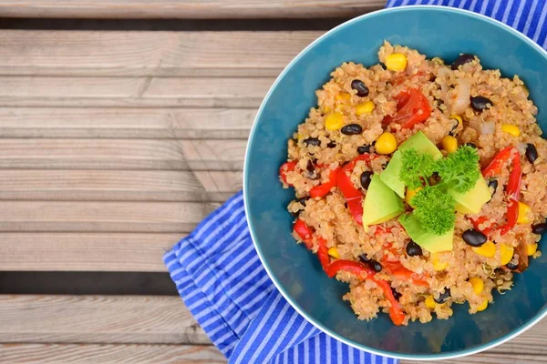
[[[446,234],[439,236],[424,230],[418,218],[412,215],[399,217],[399,222],[407,230],[408,236],[421,248],[428,250],[430,253],[452,250],[454,228]]]

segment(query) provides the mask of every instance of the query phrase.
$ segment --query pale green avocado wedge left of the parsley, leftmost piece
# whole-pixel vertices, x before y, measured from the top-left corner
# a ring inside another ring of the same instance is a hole
[[[363,202],[363,227],[379,224],[405,211],[403,200],[375,174],[366,190]]]

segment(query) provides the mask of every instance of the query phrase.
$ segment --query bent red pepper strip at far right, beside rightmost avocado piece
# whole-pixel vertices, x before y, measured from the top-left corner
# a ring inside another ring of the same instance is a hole
[[[492,159],[490,165],[482,171],[482,176],[485,178],[497,177],[501,174],[501,169],[509,161],[511,161],[512,168],[507,187],[505,188],[505,192],[509,195],[509,201],[507,202],[507,213],[505,215],[506,223],[499,227],[501,235],[510,232],[511,228],[517,224],[517,218],[519,217],[519,195],[521,193],[522,179],[521,153],[519,153],[519,149],[516,147],[502,149]],[[483,231],[483,234],[487,233]]]

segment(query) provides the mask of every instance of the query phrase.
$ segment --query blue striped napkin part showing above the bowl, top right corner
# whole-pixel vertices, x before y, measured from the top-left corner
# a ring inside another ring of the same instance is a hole
[[[467,9],[490,16],[527,35],[547,48],[547,5],[545,0],[388,0],[386,7],[404,5],[441,5]]]

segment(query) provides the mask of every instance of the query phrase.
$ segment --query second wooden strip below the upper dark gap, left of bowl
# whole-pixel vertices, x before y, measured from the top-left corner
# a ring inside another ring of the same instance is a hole
[[[257,107],[273,83],[274,77],[0,76],[0,106]]]

